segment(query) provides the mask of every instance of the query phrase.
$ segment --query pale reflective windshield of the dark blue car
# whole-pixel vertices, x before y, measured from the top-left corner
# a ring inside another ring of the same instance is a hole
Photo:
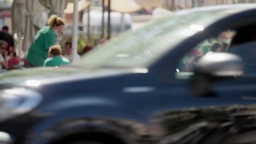
[[[91,67],[149,67],[175,45],[225,16],[224,10],[173,14],[113,38],[86,54],[79,65]]]

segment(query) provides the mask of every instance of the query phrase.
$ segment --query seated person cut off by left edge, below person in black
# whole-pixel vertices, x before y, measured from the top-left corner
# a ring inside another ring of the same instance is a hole
[[[6,41],[0,40],[0,70],[8,68],[8,52],[6,50],[7,45],[8,44]]]

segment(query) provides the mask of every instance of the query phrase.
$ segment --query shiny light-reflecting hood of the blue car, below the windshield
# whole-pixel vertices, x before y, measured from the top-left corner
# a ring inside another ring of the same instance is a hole
[[[0,73],[0,85],[27,85],[37,83],[53,83],[68,80],[92,79],[111,75],[134,73],[134,69],[101,69],[101,68],[30,68],[24,70],[11,70]]]

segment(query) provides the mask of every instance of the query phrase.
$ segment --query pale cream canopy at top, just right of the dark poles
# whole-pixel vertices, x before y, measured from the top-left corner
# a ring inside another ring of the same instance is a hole
[[[105,0],[104,5],[108,5],[108,0]],[[132,13],[140,10],[141,8],[142,7],[138,5],[135,0],[111,0],[110,5],[111,10],[118,11],[120,13]]]

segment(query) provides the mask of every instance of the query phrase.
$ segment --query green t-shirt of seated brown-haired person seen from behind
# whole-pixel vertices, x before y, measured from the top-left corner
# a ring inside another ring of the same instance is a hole
[[[70,61],[67,58],[61,56],[55,56],[45,59],[44,67],[56,67],[69,64]]]

